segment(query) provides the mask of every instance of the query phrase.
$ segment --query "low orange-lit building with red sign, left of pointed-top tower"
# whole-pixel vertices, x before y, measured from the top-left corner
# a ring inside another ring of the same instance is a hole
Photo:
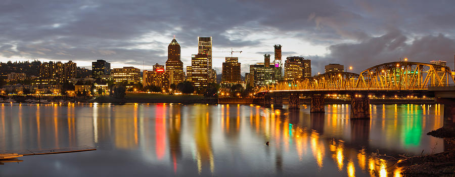
[[[169,87],[169,71],[164,71],[163,68],[157,68],[153,71],[144,70],[143,84],[144,86],[155,85],[167,89]]]

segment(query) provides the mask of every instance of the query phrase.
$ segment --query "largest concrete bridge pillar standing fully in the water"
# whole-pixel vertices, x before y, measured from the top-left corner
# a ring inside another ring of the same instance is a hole
[[[367,96],[352,97],[350,118],[370,118],[370,99]]]

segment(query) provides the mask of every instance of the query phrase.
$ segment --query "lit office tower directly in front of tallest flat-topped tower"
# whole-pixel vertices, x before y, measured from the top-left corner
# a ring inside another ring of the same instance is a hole
[[[197,89],[207,87],[209,71],[207,54],[191,55],[191,82]]]

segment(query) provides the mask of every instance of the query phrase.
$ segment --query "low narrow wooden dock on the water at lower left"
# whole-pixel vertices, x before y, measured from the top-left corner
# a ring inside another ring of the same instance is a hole
[[[82,152],[82,151],[94,151],[97,150],[90,146],[78,146],[78,147],[67,147],[67,148],[55,148],[55,149],[31,149],[31,150],[0,150],[0,154],[16,154],[21,156],[26,155],[42,155],[42,154],[59,154],[59,153],[71,153],[71,152]],[[5,155],[5,157],[12,155]],[[1,156],[0,156],[1,158]],[[5,158],[7,159],[7,158]]]

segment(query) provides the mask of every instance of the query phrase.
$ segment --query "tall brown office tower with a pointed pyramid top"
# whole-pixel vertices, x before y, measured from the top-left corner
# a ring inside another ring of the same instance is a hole
[[[178,84],[184,81],[183,62],[180,60],[180,45],[175,37],[167,46],[166,71],[173,73],[172,83]]]

